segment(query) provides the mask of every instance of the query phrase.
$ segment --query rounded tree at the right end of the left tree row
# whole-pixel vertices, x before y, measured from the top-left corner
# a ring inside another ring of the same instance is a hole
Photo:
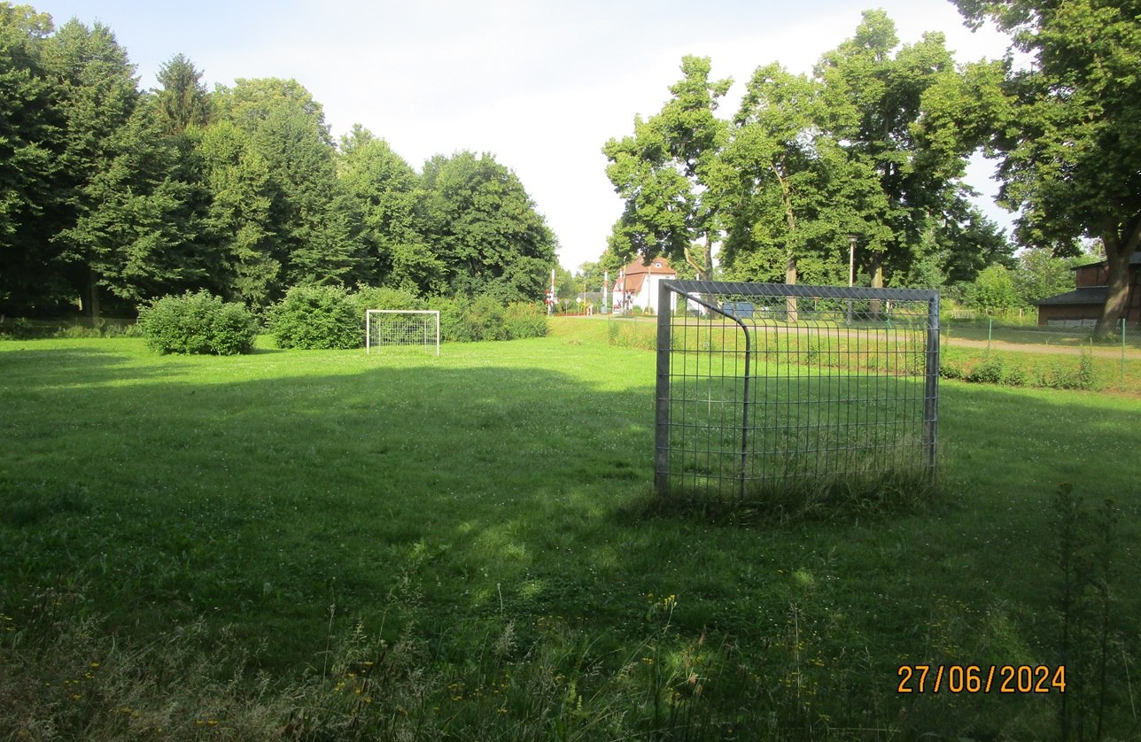
[[[519,178],[489,154],[470,152],[432,157],[422,178],[424,236],[452,293],[541,299],[556,240]]]

